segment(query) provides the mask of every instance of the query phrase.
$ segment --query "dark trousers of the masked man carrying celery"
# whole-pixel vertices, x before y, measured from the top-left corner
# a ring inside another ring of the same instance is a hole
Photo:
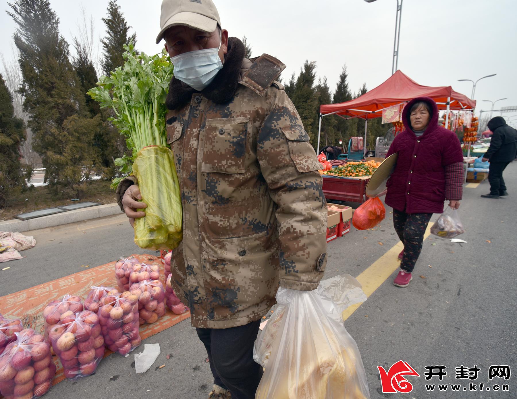
[[[262,366],[253,360],[260,322],[225,329],[196,328],[208,353],[214,383],[230,390],[232,399],[253,399],[262,378]]]

